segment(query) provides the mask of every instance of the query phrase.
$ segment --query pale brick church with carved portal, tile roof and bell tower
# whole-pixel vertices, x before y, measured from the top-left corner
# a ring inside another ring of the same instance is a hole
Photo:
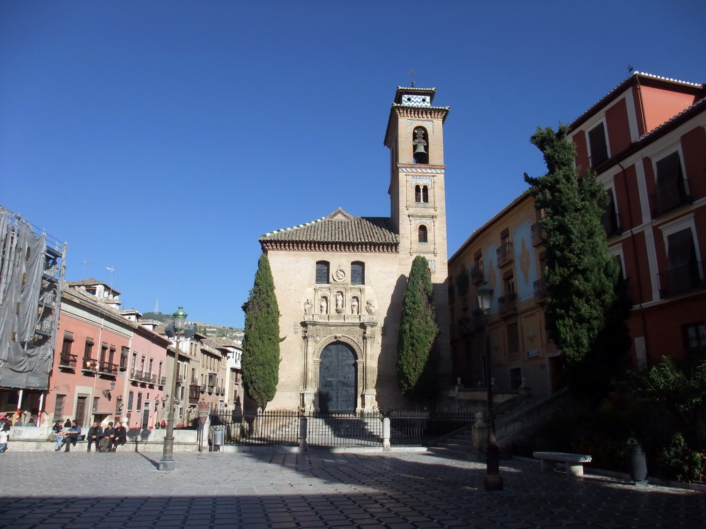
[[[337,209],[265,234],[280,308],[280,373],[270,409],[358,413],[407,405],[397,333],[407,275],[426,257],[441,380],[450,377],[443,123],[436,89],[397,87],[385,132],[390,217]]]

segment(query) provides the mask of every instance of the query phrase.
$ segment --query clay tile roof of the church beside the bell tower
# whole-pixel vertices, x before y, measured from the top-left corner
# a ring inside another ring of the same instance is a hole
[[[397,244],[400,236],[390,217],[354,217],[338,208],[328,217],[265,233],[260,241]]]

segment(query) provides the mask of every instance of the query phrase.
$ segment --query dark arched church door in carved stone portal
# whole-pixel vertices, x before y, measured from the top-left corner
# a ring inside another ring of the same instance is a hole
[[[321,351],[318,407],[323,413],[354,413],[356,358],[345,343],[330,343]]]

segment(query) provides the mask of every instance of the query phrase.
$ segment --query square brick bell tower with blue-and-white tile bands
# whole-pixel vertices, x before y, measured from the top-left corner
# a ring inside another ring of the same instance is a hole
[[[449,107],[433,107],[435,95],[436,88],[397,87],[385,145],[390,217],[400,233],[400,253],[424,255],[445,270],[443,123]]]

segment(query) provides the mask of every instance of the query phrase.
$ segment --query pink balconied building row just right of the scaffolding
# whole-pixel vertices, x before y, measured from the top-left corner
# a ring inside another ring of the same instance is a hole
[[[139,312],[122,315],[119,294],[95,279],[66,284],[44,408],[51,420],[157,422],[169,341],[141,326]]]

